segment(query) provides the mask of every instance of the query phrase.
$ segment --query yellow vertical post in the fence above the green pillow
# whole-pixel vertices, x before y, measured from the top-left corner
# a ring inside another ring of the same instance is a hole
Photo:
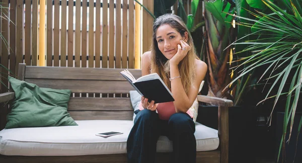
[[[45,66],[45,0],[40,0],[39,66]]]

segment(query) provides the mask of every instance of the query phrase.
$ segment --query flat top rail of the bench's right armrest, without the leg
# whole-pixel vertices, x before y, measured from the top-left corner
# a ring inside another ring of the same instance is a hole
[[[221,98],[216,98],[216,97],[198,95],[197,100],[199,102],[204,102],[204,103],[217,105],[217,106],[225,106],[225,107],[233,106],[233,101],[228,100],[228,99],[221,99]]]

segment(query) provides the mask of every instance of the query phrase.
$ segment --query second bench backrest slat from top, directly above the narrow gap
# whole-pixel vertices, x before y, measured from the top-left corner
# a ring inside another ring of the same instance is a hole
[[[72,93],[129,93],[134,88],[127,81],[25,79],[41,88],[67,89]]]

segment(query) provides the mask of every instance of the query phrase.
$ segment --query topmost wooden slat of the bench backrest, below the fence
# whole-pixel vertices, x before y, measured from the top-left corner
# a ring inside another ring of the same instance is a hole
[[[120,68],[81,68],[81,67],[37,67],[26,66],[25,78],[121,80]],[[135,78],[141,76],[140,69],[129,69]]]

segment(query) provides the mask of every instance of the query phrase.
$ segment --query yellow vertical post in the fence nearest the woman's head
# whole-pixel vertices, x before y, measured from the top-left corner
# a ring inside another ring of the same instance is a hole
[[[138,0],[140,3],[140,1]],[[140,5],[135,3],[135,46],[134,46],[134,68],[140,69]]]

